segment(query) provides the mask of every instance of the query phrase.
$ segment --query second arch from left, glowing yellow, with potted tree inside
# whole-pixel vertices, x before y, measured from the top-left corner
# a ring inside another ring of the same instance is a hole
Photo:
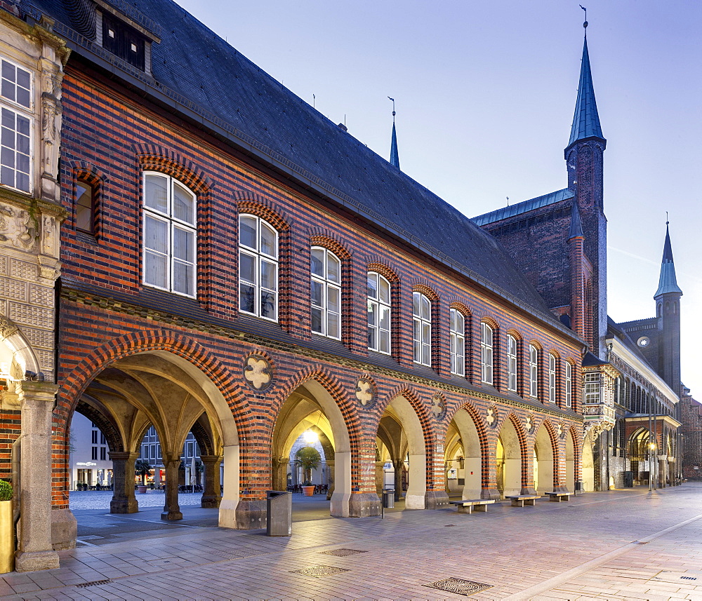
[[[315,452],[316,463],[307,463]],[[316,380],[300,384],[282,404],[271,463],[274,489],[293,493],[293,520],[349,517],[350,437],[338,405]]]

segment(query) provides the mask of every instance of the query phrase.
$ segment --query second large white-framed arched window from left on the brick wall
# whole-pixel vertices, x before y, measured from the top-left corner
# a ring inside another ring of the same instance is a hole
[[[239,215],[239,311],[278,318],[278,231],[256,215]]]

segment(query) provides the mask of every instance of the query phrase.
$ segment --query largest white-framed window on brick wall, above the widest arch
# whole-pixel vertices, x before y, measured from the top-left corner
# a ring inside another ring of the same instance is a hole
[[[195,296],[195,195],[163,173],[144,173],[144,283]]]

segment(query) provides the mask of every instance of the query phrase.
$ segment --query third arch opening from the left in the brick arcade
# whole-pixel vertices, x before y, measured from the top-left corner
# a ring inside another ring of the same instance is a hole
[[[376,434],[377,464],[383,468],[378,494],[385,487],[395,489],[395,501],[405,509],[424,509],[427,492],[427,455],[422,424],[404,396],[393,398],[380,417]],[[400,505],[402,506],[402,505]]]

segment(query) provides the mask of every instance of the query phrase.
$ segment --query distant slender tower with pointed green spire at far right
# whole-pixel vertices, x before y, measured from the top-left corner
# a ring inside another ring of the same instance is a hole
[[[658,278],[656,318],[658,318],[658,374],[675,394],[680,396],[680,297],[682,290],[677,285],[673,247],[670,231],[665,224],[665,244],[661,261],[661,277]]]

